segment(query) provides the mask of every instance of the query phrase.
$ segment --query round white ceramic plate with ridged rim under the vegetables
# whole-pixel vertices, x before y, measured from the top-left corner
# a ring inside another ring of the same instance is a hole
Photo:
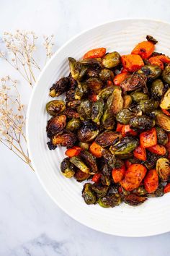
[[[27,139],[32,164],[48,195],[76,221],[92,229],[119,236],[151,236],[170,231],[170,193],[149,199],[136,208],[122,204],[115,208],[86,205],[82,184],[66,179],[60,172],[63,148],[50,151],[45,127],[49,116],[45,104],[51,100],[49,88],[68,75],[68,56],[79,59],[91,48],[128,54],[135,44],[153,35],[156,51],[170,55],[170,25],[153,20],[119,20],[94,27],[62,46],[43,69],[35,86],[27,114]],[[56,216],[57,218],[57,216]]]

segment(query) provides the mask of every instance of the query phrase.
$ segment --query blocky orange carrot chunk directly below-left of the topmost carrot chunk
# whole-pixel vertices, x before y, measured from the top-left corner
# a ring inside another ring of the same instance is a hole
[[[122,66],[128,72],[135,72],[144,66],[143,59],[138,54],[128,54],[121,57]]]

